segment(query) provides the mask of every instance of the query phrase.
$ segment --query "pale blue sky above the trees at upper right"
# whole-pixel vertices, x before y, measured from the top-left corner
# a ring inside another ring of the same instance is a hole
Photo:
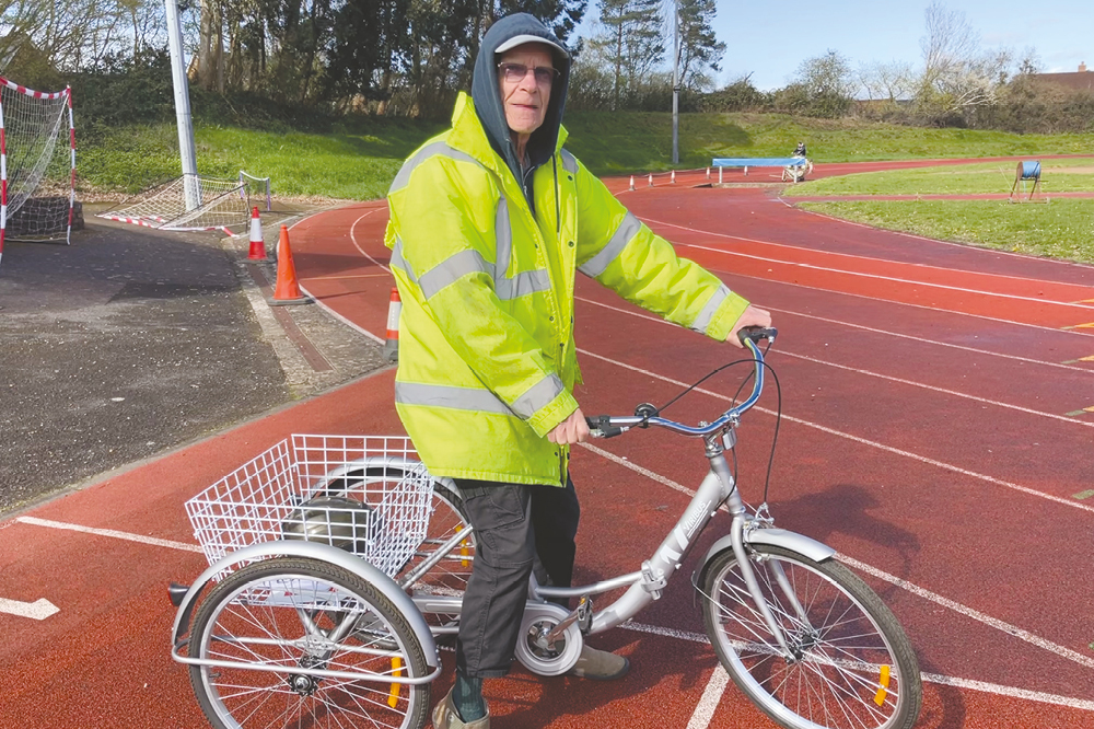
[[[717,0],[714,33],[726,46],[718,85],[752,73],[760,91],[780,89],[802,61],[839,51],[851,67],[904,61],[922,65],[920,38],[929,0]],[[590,16],[597,14],[590,0]],[[948,0],[965,13],[984,49],[1036,50],[1041,71],[1094,71],[1094,0]],[[592,18],[579,35],[592,31]]]

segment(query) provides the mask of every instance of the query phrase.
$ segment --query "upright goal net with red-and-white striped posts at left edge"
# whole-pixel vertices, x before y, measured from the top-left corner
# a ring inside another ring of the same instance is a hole
[[[4,240],[69,242],[74,204],[71,90],[0,77],[0,255]]]

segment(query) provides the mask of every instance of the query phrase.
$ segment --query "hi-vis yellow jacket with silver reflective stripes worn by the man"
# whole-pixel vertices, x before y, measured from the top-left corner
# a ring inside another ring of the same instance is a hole
[[[624,208],[562,149],[534,173],[532,212],[472,100],[403,165],[385,243],[403,300],[395,403],[435,476],[566,483],[547,439],[578,407],[575,271],[714,339],[747,306]]]

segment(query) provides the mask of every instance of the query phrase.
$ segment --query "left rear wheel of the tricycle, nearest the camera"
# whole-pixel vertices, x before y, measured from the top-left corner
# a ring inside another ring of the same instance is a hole
[[[352,624],[346,626],[345,620]],[[350,632],[331,639],[339,625]],[[428,721],[429,683],[301,672],[312,668],[410,678],[429,673],[406,616],[372,585],[327,563],[279,557],[228,576],[198,609],[189,655],[238,664],[190,667],[198,703],[217,729],[422,729]]]

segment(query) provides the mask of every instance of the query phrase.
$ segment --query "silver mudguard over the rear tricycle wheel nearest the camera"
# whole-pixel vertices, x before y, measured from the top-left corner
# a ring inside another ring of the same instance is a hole
[[[333,547],[329,544],[321,544],[318,542],[301,542],[295,540],[263,542],[261,544],[254,544],[252,546],[244,547],[243,549],[233,552],[201,572],[197,580],[194,581],[194,585],[190,586],[189,590],[187,590],[186,597],[183,598],[182,603],[178,605],[178,612],[175,614],[175,625],[172,628],[171,641],[172,656],[175,656],[175,650],[177,650],[181,646],[181,640],[187,633],[189,633],[190,613],[194,612],[194,606],[197,603],[198,595],[201,594],[201,591],[205,590],[206,586],[212,580],[213,576],[224,569],[238,565],[240,563],[253,562],[267,557],[305,557],[309,559],[315,559],[316,562],[331,564],[336,567],[341,567],[342,569],[360,577],[362,580],[379,590],[381,594],[391,600],[392,604],[395,605],[395,609],[406,616],[407,623],[410,624],[410,628],[414,630],[415,637],[418,638],[418,641],[421,644],[422,651],[426,653],[426,663],[431,669],[435,669],[440,666],[440,657],[437,652],[437,643],[433,640],[433,634],[429,632],[429,625],[426,624],[426,618],[421,616],[420,612],[418,612],[418,608],[414,604],[410,597],[400,590],[399,586],[396,585],[392,578],[360,557],[344,549],[339,549],[338,547]]]

